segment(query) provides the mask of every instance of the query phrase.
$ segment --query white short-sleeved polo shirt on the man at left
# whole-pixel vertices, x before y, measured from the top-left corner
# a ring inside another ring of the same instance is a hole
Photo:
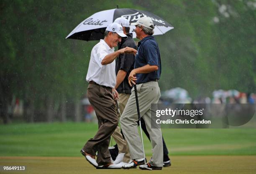
[[[110,48],[102,39],[92,48],[86,81],[94,81],[99,85],[111,88],[115,87],[115,61],[108,65],[101,64],[103,58],[110,53],[114,53],[114,51],[115,48]]]

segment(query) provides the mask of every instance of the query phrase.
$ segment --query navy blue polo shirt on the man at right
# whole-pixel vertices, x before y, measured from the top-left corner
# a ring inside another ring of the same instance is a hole
[[[147,36],[138,43],[138,50],[135,57],[135,68],[140,68],[145,65],[158,66],[157,71],[151,73],[138,73],[136,74],[136,83],[146,83],[150,80],[160,79],[161,75],[161,58],[160,50],[154,36]]]

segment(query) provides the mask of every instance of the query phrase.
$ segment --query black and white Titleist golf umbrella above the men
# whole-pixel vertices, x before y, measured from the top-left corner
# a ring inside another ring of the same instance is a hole
[[[108,24],[113,23],[116,18],[124,17],[129,20],[130,23],[136,22],[139,18],[144,16],[150,17],[153,21],[154,35],[163,35],[174,27],[163,20],[162,18],[149,13],[144,10],[135,10],[129,8],[116,8],[111,10],[104,10],[91,15],[89,18],[85,19],[77,25],[74,30],[69,33],[66,37],[69,39],[79,39],[79,40],[100,40],[104,38],[104,32]],[[130,26],[130,33],[133,33],[133,38],[136,38],[136,33],[134,32],[135,26]]]

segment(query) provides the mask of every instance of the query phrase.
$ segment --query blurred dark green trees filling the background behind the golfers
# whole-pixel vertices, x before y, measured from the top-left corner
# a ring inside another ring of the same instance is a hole
[[[66,40],[82,20],[101,10],[150,11],[174,26],[156,36],[161,90],[181,87],[192,97],[215,89],[256,91],[255,0],[1,0],[0,111],[20,98],[26,121],[80,121],[80,100],[92,47]]]

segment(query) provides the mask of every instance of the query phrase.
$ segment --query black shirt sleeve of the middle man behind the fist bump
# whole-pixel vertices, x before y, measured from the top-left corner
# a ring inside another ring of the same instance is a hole
[[[137,49],[137,46],[135,44],[132,45],[132,43],[123,44],[122,48],[125,48],[127,46]],[[121,58],[120,69],[128,73],[131,66],[133,66],[134,61],[135,61],[135,56],[133,54],[123,54],[123,57]]]

